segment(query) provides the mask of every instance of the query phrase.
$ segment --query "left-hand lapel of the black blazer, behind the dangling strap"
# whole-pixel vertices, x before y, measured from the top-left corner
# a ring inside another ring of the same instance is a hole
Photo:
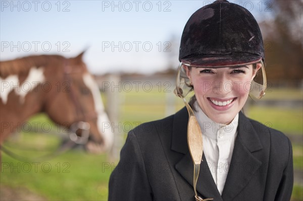
[[[175,168],[193,186],[193,162],[187,145],[187,122],[188,112],[184,107],[174,117],[171,149],[184,154],[183,158],[175,164]],[[212,197],[214,200],[222,200],[204,155],[200,165],[196,189],[202,198]]]

